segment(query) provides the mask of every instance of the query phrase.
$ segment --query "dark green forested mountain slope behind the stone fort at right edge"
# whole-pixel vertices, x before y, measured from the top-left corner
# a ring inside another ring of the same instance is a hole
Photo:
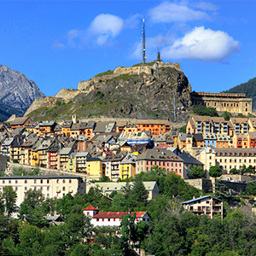
[[[256,108],[256,78],[250,79],[246,83],[236,85],[230,90],[225,90],[224,92],[245,93],[248,98],[253,99],[253,109]]]

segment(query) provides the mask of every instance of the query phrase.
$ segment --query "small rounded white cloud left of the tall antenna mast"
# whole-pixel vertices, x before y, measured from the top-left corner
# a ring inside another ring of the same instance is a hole
[[[97,15],[92,21],[88,32],[96,37],[96,43],[105,44],[108,38],[119,35],[124,26],[124,21],[115,15]]]

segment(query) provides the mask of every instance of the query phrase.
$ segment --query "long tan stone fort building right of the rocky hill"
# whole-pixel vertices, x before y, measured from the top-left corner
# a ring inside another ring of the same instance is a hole
[[[212,93],[195,92],[191,93],[192,101],[197,106],[215,108],[217,111],[230,113],[252,113],[252,99],[247,98],[244,93]]]

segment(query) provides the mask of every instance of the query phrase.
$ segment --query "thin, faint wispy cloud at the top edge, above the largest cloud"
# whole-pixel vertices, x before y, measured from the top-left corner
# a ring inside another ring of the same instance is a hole
[[[189,9],[184,3],[170,2],[160,3],[159,6],[150,9],[149,16],[154,23],[210,19],[207,13]]]

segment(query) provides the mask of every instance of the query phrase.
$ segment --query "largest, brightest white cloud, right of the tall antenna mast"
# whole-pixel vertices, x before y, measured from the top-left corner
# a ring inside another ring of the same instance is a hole
[[[217,62],[239,50],[239,42],[226,32],[201,26],[186,33],[183,38],[177,38],[171,46],[161,49],[161,55],[164,58]]]

